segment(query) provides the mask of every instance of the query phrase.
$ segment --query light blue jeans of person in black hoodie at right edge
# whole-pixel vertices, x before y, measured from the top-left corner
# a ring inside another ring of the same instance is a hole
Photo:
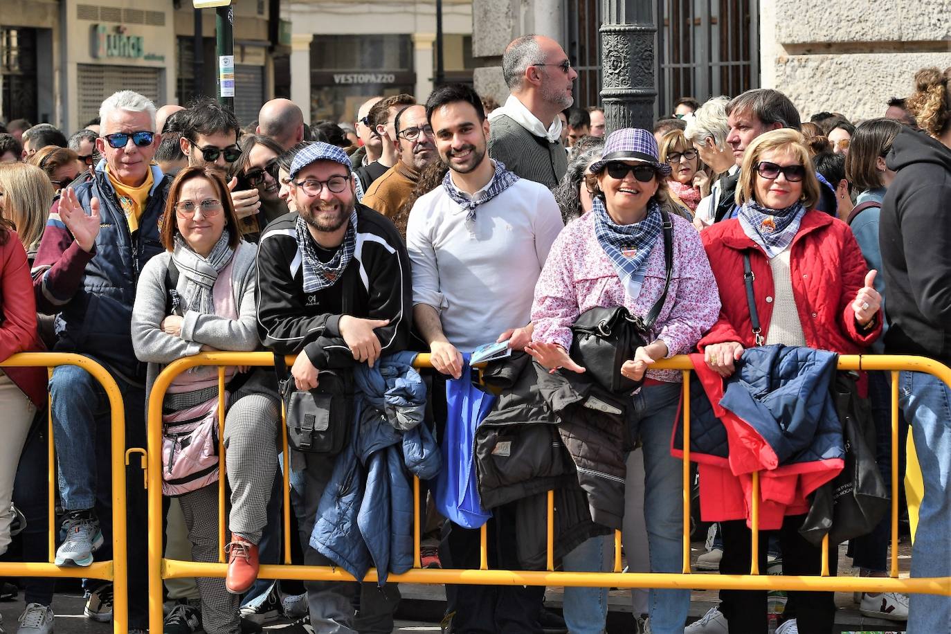
[[[951,390],[941,379],[902,372],[899,403],[911,424],[924,497],[911,553],[912,577],[951,576]],[[912,594],[908,634],[951,634],[951,597]]]

